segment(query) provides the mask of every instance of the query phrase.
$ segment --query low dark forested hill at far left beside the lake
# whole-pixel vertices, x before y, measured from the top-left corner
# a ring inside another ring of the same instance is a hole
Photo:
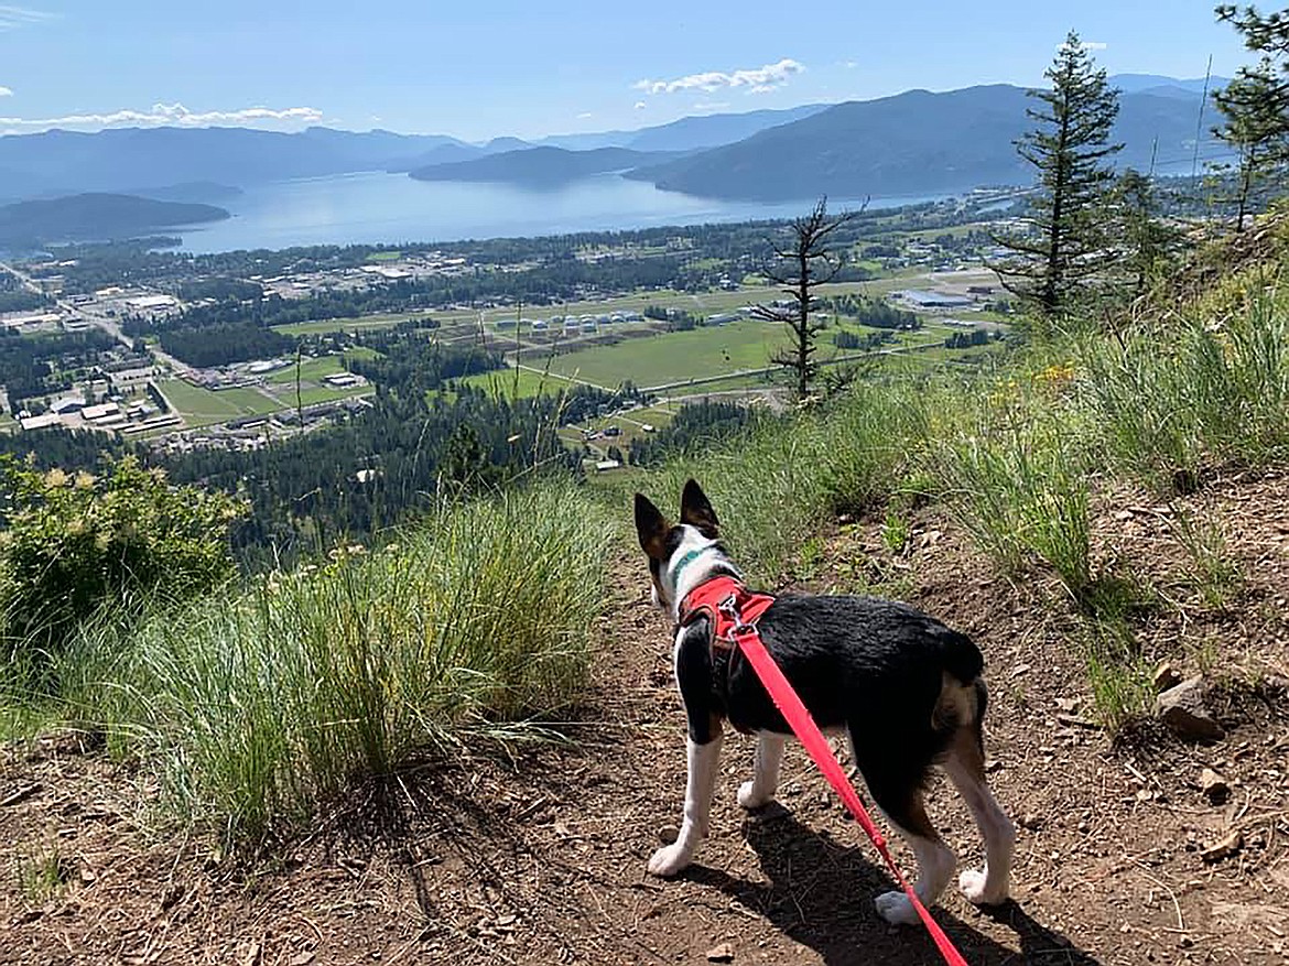
[[[0,206],[0,245],[130,238],[175,225],[219,222],[229,214],[214,205],[85,193]]]

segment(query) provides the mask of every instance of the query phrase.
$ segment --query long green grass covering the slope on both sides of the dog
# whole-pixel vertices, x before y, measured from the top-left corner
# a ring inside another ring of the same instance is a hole
[[[148,623],[122,650],[104,638],[94,661],[67,668],[64,698],[175,783],[180,814],[254,829],[307,811],[354,769],[567,701],[558,674],[526,680],[523,666],[536,648],[579,680],[606,535],[629,542],[630,488],[674,498],[696,475],[740,560],[771,585],[837,514],[884,514],[897,533],[914,501],[938,501],[1013,580],[1076,603],[1065,644],[1085,663],[1098,714],[1119,726],[1148,693],[1132,641],[1150,591],[1132,560],[1092,559],[1092,501],[1115,480],[1168,500],[1217,466],[1289,462],[1280,234],[1274,256],[1200,298],[1168,294],[1119,339],[1089,326],[977,371],[892,367],[819,412],[647,475],[517,491],[447,513],[374,559]],[[1196,573],[1221,599],[1221,541],[1199,523]],[[505,684],[510,674],[521,677]]]

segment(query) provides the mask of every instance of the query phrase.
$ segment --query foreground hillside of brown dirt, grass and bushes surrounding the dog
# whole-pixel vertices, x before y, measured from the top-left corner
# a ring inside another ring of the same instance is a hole
[[[907,601],[978,644],[985,772],[1020,841],[1009,902],[936,904],[968,962],[1281,963],[1286,272],[1289,222],[1265,218],[989,365],[893,361],[616,477],[440,491],[370,546],[333,528],[240,582],[236,497],[131,461],[10,462],[4,951],[935,962],[878,918],[889,880],[795,748],[777,801],[744,811],[753,742],[727,733],[696,864],[644,872],[684,801],[684,716],[629,507],[674,507],[692,475],[753,583]],[[128,611],[148,574],[161,592]],[[947,782],[931,806],[978,864]]]

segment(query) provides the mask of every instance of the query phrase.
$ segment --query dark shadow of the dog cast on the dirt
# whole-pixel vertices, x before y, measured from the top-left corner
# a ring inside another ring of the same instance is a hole
[[[873,898],[895,885],[869,860],[871,846],[862,831],[852,827],[857,842],[840,844],[826,832],[800,824],[782,806],[770,805],[744,823],[744,836],[759,857],[768,882],[735,878],[703,866],[691,866],[684,875],[759,912],[785,935],[819,953],[829,966],[942,963],[926,930],[889,926],[878,918]],[[1020,945],[1017,953],[969,921],[937,908],[936,920],[972,966],[1020,962],[1101,966],[1097,958],[1036,922],[1014,902],[972,914],[1007,926]]]

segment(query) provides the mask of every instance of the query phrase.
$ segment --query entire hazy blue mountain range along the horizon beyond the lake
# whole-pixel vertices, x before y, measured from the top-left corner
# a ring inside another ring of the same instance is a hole
[[[1197,126],[1216,120],[1203,80],[1118,75],[1120,165],[1190,170]],[[1225,84],[1210,79],[1209,90]],[[309,128],[296,134],[244,128],[53,130],[0,138],[0,201],[84,192],[219,201],[237,188],[353,171],[411,173],[425,180],[505,180],[550,185],[630,169],[668,191],[721,198],[803,200],[919,194],[1016,184],[1031,173],[1013,142],[1032,122],[1022,88],[911,90],[875,100],[786,111],[683,117],[635,131],[496,138],[468,144],[407,135]],[[1200,146],[1212,156],[1210,140]],[[672,152],[660,155],[657,152]]]

